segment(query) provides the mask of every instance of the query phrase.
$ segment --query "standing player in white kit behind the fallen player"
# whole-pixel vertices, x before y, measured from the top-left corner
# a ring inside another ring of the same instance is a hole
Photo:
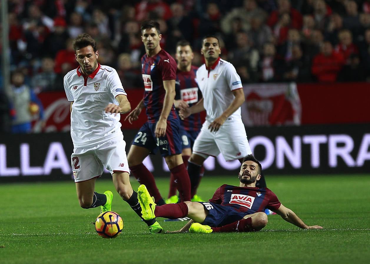
[[[203,38],[201,53],[205,64],[196,72],[196,80],[203,98],[198,104],[180,110],[182,119],[204,110],[207,112],[189,158],[191,179],[200,177],[201,166],[209,156],[222,153],[226,161],[238,159],[242,162],[242,157],[252,154],[240,115],[245,96],[235,67],[219,57],[219,40],[213,35]],[[264,179],[258,184],[256,186],[266,187]]]

